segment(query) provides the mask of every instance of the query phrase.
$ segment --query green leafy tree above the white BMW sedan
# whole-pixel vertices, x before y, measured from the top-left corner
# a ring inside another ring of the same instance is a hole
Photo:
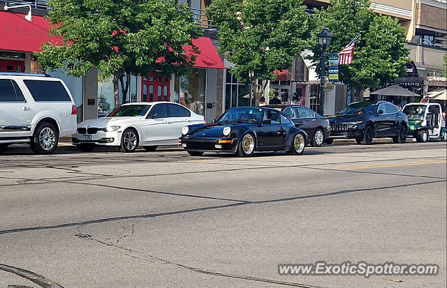
[[[186,5],[173,0],[50,0],[52,36],[62,43],[45,43],[38,60],[45,68],[64,68],[80,77],[93,67],[100,79],[113,77],[115,105],[119,106],[119,81],[123,95],[131,73],[161,71],[165,76],[184,73],[195,61],[184,45],[202,31]],[[197,52],[196,47],[193,50]]]

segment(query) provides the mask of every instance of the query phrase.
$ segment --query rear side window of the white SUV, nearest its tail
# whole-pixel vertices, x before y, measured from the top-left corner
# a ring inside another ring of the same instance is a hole
[[[36,102],[71,102],[64,85],[59,81],[23,80]]]

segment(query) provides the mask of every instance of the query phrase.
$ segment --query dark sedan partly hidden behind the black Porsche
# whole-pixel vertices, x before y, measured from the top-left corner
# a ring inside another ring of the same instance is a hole
[[[292,119],[295,126],[305,130],[312,146],[321,146],[330,136],[329,120],[320,114],[300,105],[267,105],[277,109]]]

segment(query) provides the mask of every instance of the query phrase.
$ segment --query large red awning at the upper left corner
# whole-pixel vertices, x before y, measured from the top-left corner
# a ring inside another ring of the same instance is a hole
[[[33,15],[33,21],[29,22],[24,14],[0,11],[1,50],[37,52],[45,42],[61,43],[49,35],[50,23],[42,16]]]

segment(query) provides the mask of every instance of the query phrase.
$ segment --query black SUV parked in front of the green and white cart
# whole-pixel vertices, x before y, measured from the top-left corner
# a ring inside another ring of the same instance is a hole
[[[389,102],[351,103],[329,119],[330,139],[356,139],[358,144],[371,144],[373,138],[393,137],[395,143],[405,143],[408,119]]]

